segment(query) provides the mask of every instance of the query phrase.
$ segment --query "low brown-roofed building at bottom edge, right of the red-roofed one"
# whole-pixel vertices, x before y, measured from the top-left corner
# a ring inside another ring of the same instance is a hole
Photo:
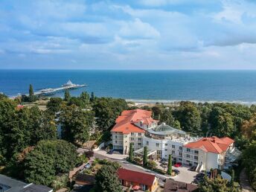
[[[173,179],[166,179],[163,192],[193,192],[196,191],[197,189],[197,185],[192,185],[185,182],[176,182]]]

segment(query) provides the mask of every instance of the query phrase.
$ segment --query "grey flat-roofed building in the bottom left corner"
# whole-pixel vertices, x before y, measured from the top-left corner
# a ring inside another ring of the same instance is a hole
[[[0,174],[0,192],[52,192],[44,185],[27,184]]]

